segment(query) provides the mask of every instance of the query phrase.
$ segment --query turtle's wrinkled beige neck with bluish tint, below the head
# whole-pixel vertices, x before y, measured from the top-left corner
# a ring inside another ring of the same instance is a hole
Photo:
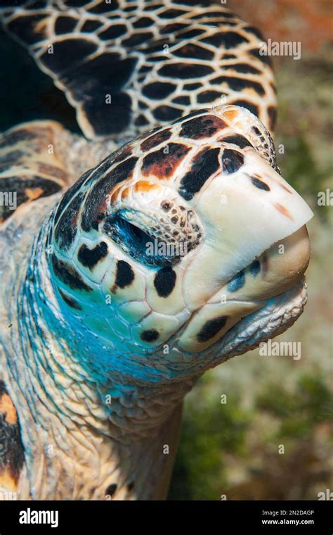
[[[162,494],[159,486],[176,454],[181,400],[195,379],[145,384],[130,373],[96,367],[98,355],[91,358],[89,340],[80,339],[64,317],[48,278],[50,221],[48,215],[20,267],[13,310],[17,351],[8,372],[19,387],[15,405],[29,480],[18,494],[162,497],[167,485]]]

